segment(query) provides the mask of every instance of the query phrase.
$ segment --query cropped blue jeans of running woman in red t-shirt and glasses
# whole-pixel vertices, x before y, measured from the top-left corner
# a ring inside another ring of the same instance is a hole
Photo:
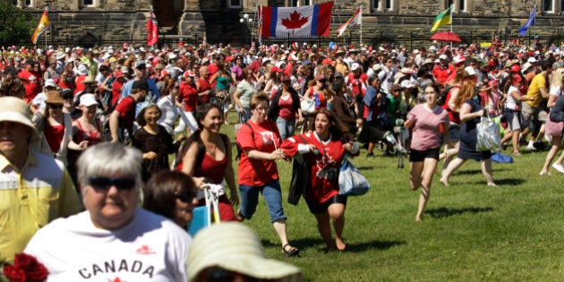
[[[259,204],[259,192],[262,193],[264,201],[270,213],[270,222],[278,219],[286,219],[284,209],[282,209],[282,192],[280,191],[280,182],[272,180],[264,186],[247,186],[239,185],[241,192],[241,212],[244,218],[251,219]]]

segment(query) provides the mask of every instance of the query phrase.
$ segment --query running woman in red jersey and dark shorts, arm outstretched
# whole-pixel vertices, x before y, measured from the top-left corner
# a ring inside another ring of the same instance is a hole
[[[290,137],[280,148],[288,156],[302,154],[310,169],[310,181],[303,198],[317,220],[317,227],[328,251],[343,251],[346,244],[342,234],[345,227],[346,195],[339,194],[338,174],[346,154],[358,154],[358,144],[342,139],[338,121],[326,108],[312,115],[310,131]],[[335,229],[332,240],[330,221]]]

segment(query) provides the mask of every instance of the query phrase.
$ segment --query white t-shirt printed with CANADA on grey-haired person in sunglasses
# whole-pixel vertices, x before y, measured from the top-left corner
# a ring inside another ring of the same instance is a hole
[[[39,229],[24,252],[45,265],[48,281],[187,281],[191,242],[174,222],[145,209],[117,230],[99,229],[83,211]]]

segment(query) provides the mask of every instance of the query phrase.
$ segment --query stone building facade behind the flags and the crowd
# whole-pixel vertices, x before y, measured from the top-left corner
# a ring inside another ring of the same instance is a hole
[[[146,34],[152,5],[159,33],[246,36],[256,24],[257,6],[298,6],[327,0],[18,0],[40,16],[48,7],[53,38],[134,38]],[[555,30],[564,24],[561,0],[334,0],[331,32],[363,5],[363,32],[429,33],[434,17],[454,4],[456,30],[518,30],[538,7],[535,29]],[[240,22],[244,13],[252,24]]]

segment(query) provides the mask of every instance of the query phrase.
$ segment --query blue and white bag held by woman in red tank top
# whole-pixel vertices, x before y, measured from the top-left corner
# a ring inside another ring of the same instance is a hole
[[[201,229],[210,226],[212,222],[219,223],[219,196],[214,189],[204,188],[206,205],[192,209],[193,219],[188,225],[188,234],[192,237]]]

